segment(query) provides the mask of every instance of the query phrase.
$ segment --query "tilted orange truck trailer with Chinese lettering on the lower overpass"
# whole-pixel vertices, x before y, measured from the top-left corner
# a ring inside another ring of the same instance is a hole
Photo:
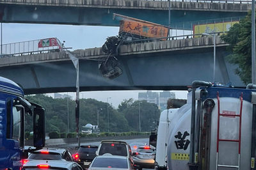
[[[147,38],[167,40],[168,27],[166,26],[116,13],[113,14],[113,19],[120,20],[119,36],[124,42]]]

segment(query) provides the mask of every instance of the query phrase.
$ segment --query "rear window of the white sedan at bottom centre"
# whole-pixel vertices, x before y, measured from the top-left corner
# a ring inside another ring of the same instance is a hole
[[[128,168],[124,158],[95,158],[92,167]]]

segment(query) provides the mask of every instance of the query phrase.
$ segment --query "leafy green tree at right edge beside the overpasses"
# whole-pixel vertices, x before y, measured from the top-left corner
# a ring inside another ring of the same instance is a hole
[[[229,45],[227,50],[232,52],[228,55],[230,63],[238,65],[236,74],[239,75],[244,84],[252,82],[252,13],[230,27],[227,34],[221,39]]]

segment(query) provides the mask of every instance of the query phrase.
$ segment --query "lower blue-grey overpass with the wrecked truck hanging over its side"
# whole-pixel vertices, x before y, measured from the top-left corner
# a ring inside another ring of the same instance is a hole
[[[225,56],[227,44],[216,36],[216,82],[244,87],[237,68]],[[123,89],[187,89],[195,80],[212,81],[212,36],[134,43],[120,46],[122,75],[109,80],[99,72],[100,48],[75,50],[81,91]],[[76,70],[65,52],[0,58],[0,75],[19,83],[26,94],[76,91]]]

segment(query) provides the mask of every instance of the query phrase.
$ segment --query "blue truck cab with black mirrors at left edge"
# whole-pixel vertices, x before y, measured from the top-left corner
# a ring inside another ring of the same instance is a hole
[[[22,159],[28,157],[25,114],[33,116],[33,145],[40,149],[45,144],[44,108],[24,99],[18,84],[0,77],[0,170],[21,169]]]

